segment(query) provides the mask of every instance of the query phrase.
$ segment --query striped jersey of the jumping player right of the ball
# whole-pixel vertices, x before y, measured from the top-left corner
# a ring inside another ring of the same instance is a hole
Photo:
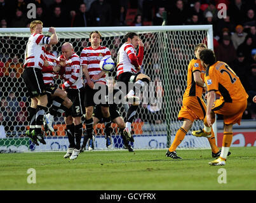
[[[129,58],[130,55],[136,56],[136,50],[134,46],[130,43],[125,43],[121,46],[118,51],[118,76],[123,72],[133,72],[137,73],[136,67],[132,64],[131,59]]]

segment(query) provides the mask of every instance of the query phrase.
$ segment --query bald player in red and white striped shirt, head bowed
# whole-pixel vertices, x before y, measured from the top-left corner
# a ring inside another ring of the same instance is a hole
[[[62,89],[67,92],[67,97],[72,101],[72,107],[65,112],[65,123],[67,125],[67,137],[69,138],[69,148],[64,158],[76,159],[81,152],[81,137],[83,124],[83,70],[80,66],[80,58],[74,52],[71,43],[62,45],[62,55],[59,58],[65,59],[65,67],[60,70],[64,77]]]

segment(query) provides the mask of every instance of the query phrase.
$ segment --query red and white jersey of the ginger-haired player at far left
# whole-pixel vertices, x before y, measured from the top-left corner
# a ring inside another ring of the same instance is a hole
[[[32,34],[29,37],[27,48],[25,50],[25,63],[24,67],[35,67],[38,69],[43,68],[44,64],[44,44],[50,43],[50,37],[43,34]]]

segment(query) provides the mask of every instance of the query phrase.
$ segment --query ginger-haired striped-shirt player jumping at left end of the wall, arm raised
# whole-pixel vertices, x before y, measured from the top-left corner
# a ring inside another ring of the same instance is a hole
[[[43,125],[43,116],[46,111],[48,99],[44,89],[44,81],[41,69],[44,64],[44,44],[57,44],[58,36],[54,27],[50,27],[51,37],[46,37],[42,34],[43,22],[34,20],[30,23],[31,36],[27,42],[25,50],[24,72],[22,77],[25,86],[31,98],[29,108],[30,130],[27,131],[27,136],[33,143],[37,143],[37,139],[46,144],[43,138],[41,126]],[[35,121],[35,122],[34,122]],[[34,124],[32,124],[34,122]]]

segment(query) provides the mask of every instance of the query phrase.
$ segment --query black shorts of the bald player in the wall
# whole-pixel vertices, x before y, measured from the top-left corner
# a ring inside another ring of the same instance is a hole
[[[84,114],[84,89],[66,89],[67,97],[72,101],[72,106],[65,112],[65,117],[81,117]]]

